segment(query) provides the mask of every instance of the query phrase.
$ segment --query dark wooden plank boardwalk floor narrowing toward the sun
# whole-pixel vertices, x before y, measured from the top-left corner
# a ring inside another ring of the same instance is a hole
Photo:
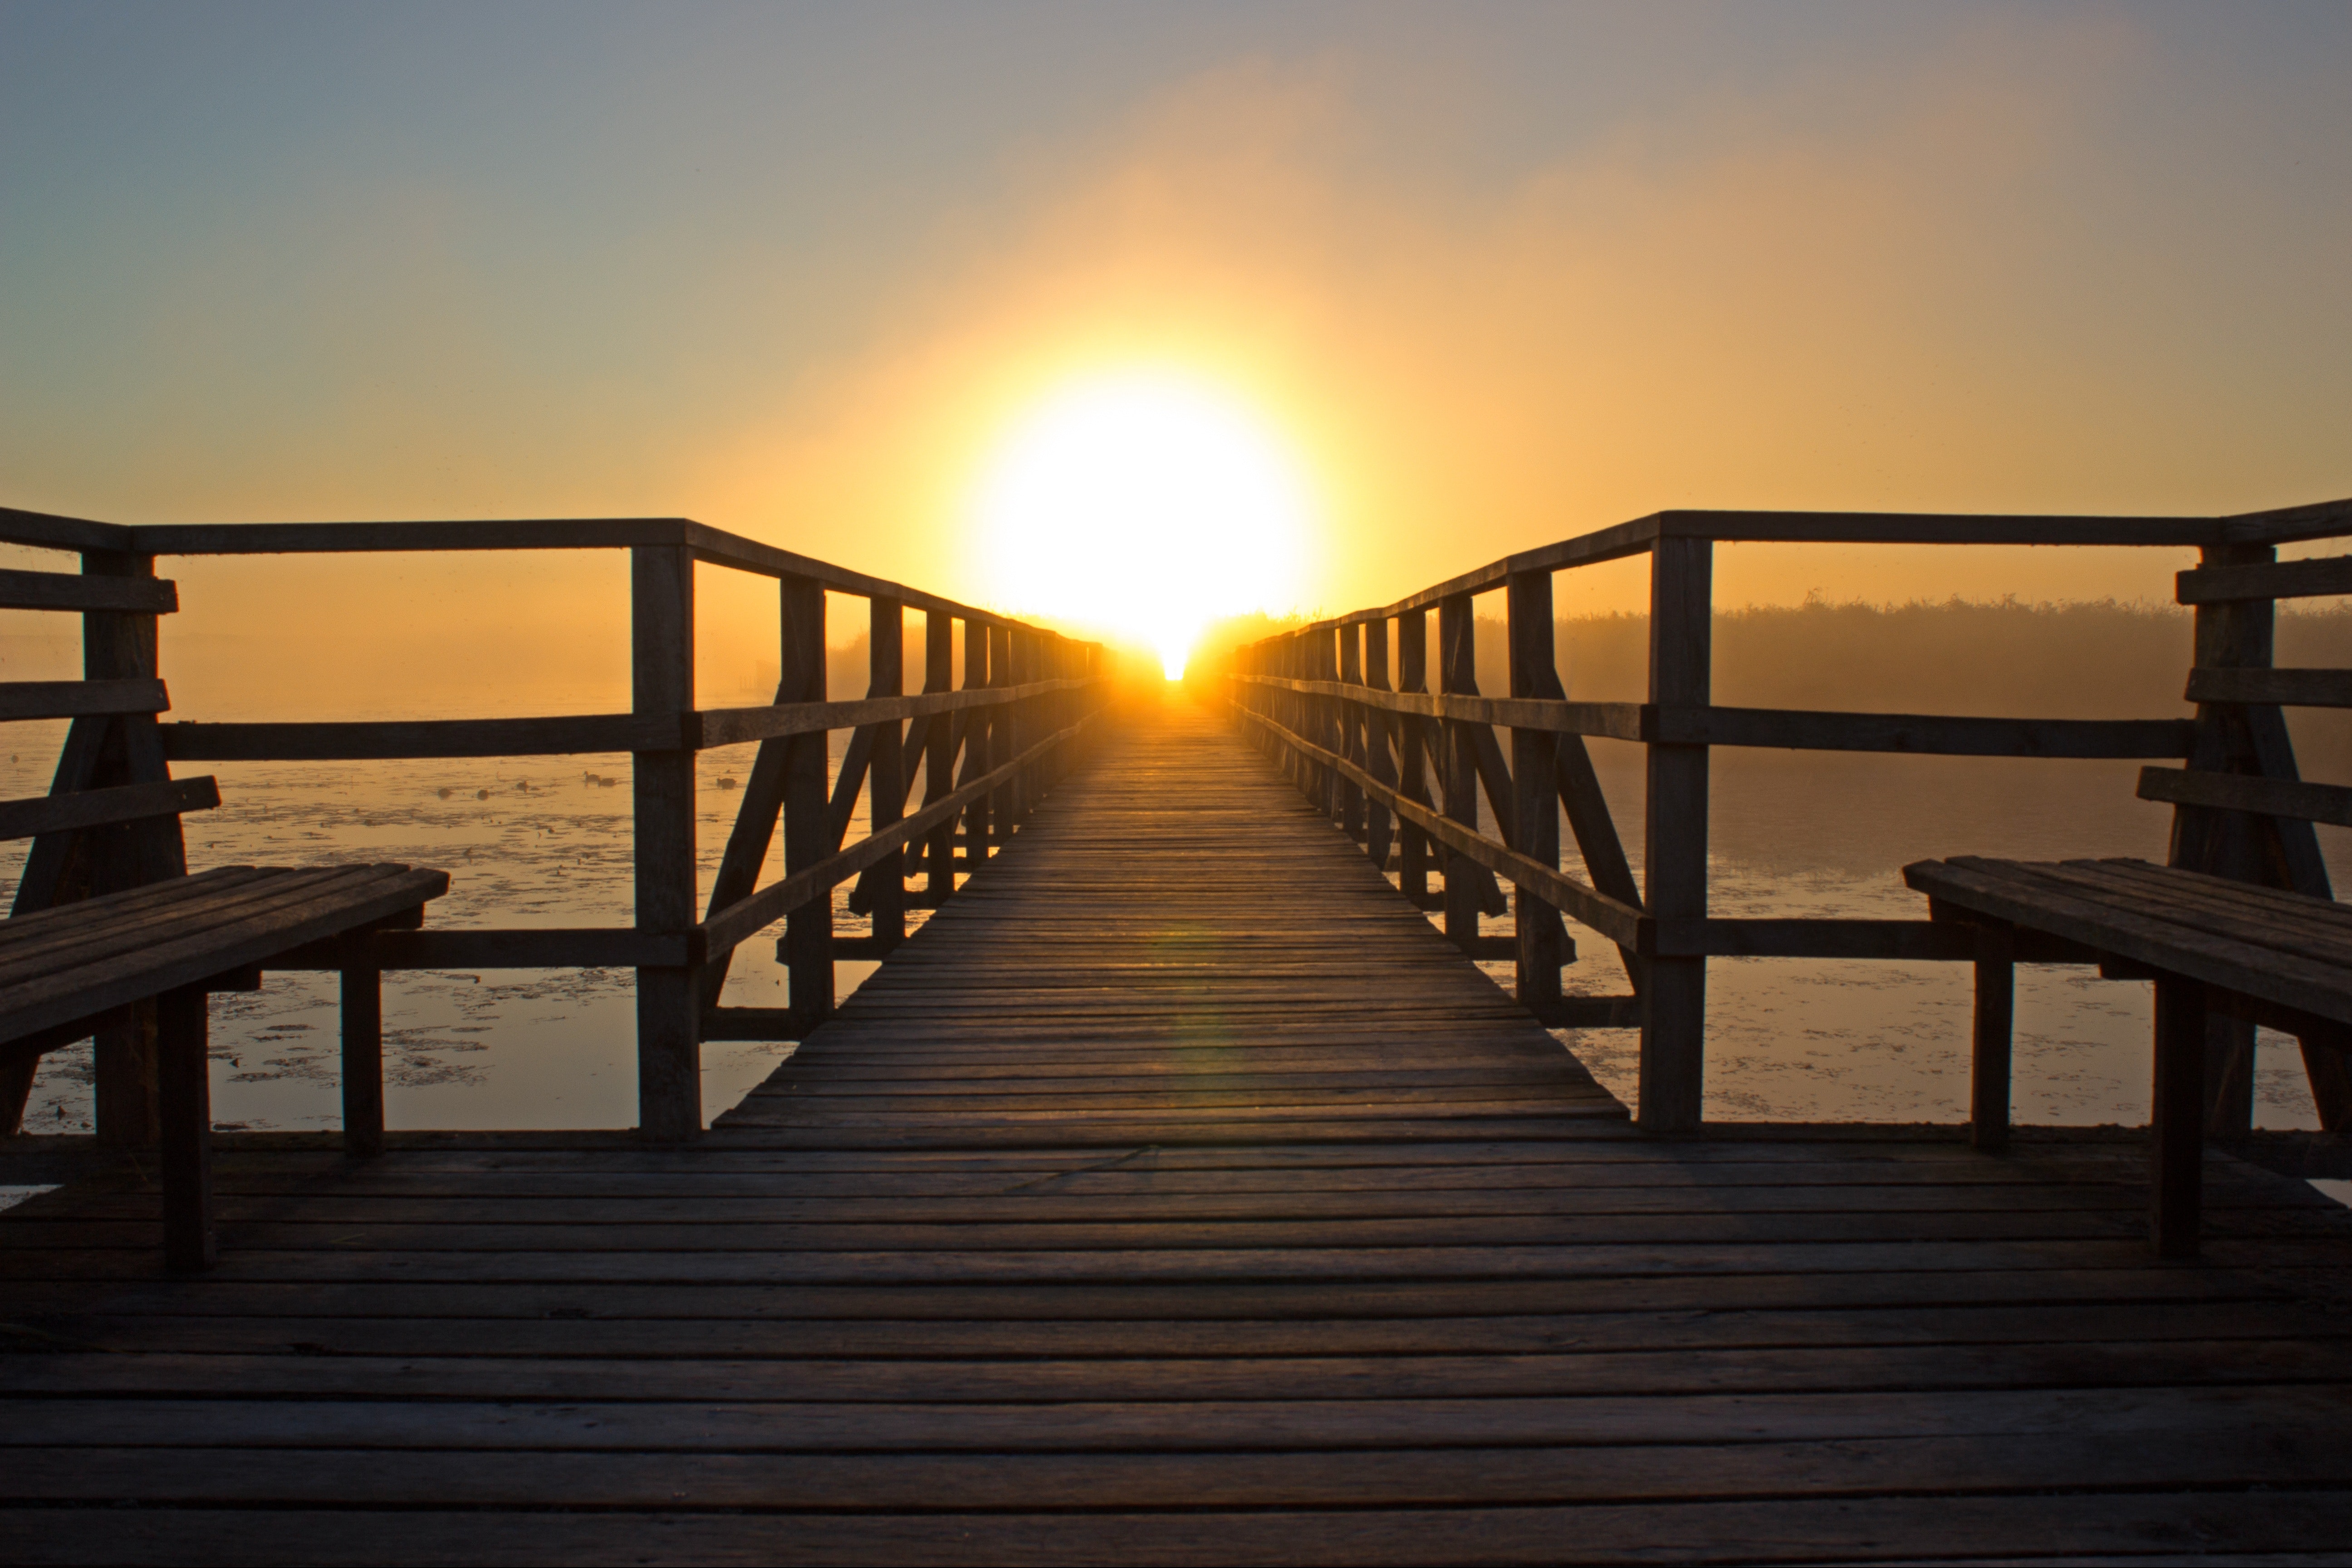
[[[0,1559],[2352,1561],[2352,1215],[2209,1182],[1646,1140],[1171,708],[696,1147],[0,1218]]]

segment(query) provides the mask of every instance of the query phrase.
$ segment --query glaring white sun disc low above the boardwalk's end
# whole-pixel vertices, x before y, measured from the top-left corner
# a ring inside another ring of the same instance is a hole
[[[978,520],[1000,604],[1143,637],[1178,679],[1211,618],[1289,609],[1308,487],[1230,395],[1167,374],[1101,376],[1014,428]]]

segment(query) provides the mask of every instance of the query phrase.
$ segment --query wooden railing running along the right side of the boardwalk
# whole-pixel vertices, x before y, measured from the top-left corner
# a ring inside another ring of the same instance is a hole
[[[2173,863],[2310,886],[2319,863],[2310,827],[2291,816],[2249,813],[2312,804],[2281,795],[2317,785],[2296,783],[2277,703],[2314,701],[2312,693],[2352,698],[2352,672],[2267,670],[2267,595],[2352,592],[2352,557],[2274,564],[2281,543],[2343,536],[2352,536],[2352,501],[2239,517],[1658,512],[1491,562],[1381,609],[1254,642],[1223,672],[1225,698],[1235,722],[1291,771],[1308,799],[1357,835],[1374,865],[1399,875],[1406,898],[1444,910],[1446,936],[1475,957],[1515,959],[1517,994],[1536,1018],[1552,1027],[1639,1027],[1639,1121],[1679,1131],[1700,1121],[1710,957],[1976,959],[1964,929],[1926,919],[1710,917],[1710,748],[2204,759],[2199,771],[2180,776],[2187,783],[2161,795],[2178,802]],[[2197,548],[2201,567],[2180,576],[2180,602],[2197,607],[2197,672],[2187,691],[2199,703],[2197,717],[1717,708],[1710,701],[1717,541]],[[1552,654],[1552,574],[1637,555],[1651,564],[1649,701],[1569,701]],[[1486,592],[1503,595],[1508,696],[1479,691],[1472,604]],[[1510,736],[1508,757],[1498,729]],[[1585,736],[1646,748],[1639,884]],[[1479,825],[1482,804],[1491,830]],[[2352,820],[2352,790],[2317,804],[2319,820]],[[1562,816],[1588,879],[1559,870]],[[2223,853],[2220,844],[2239,849]],[[2300,867],[2293,879],[2288,865]],[[1442,893],[1430,891],[1432,872]],[[2317,875],[2324,891],[2324,872]],[[1512,884],[1515,903],[1505,905],[1496,879]],[[1482,936],[1479,917],[1505,910],[1515,914],[1515,936]],[[1573,952],[1562,914],[1616,945],[1625,994],[1562,997],[1559,969]],[[2241,1098],[2234,1114],[2251,1114],[2251,1095]]]

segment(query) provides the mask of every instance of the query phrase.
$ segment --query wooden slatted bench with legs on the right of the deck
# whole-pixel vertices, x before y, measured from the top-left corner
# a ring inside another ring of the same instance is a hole
[[[2345,1072],[2352,1046],[2352,907],[2145,860],[1919,860],[1903,879],[1943,922],[1980,929],[1971,1126],[2009,1128],[2009,1044],[2018,933],[2037,961],[2098,964],[2154,980],[2150,1232],[2164,1258],[2197,1253],[2209,1117],[2206,1020],[2237,1018],[2303,1041],[2305,1060]]]

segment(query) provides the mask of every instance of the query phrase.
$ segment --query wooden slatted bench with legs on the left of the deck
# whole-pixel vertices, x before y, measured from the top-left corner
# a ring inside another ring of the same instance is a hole
[[[383,1147],[381,976],[367,933],[419,924],[449,875],[407,865],[228,865],[0,922],[0,1053],[38,1056],[155,1001],[165,1260],[205,1269],[212,1234],[207,994],[254,990],[296,947],[343,945],[343,1138]]]

